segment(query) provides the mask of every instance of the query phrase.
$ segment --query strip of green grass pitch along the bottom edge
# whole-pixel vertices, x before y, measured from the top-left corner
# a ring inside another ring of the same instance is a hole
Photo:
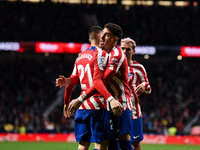
[[[89,150],[93,150],[94,145]],[[77,143],[63,142],[0,142],[0,150],[77,150]],[[142,150],[200,150],[196,145],[142,144]]]

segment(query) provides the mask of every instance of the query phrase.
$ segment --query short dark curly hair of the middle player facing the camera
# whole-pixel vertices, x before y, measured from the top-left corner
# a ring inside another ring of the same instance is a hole
[[[117,36],[118,39],[120,39],[122,37],[123,31],[122,28],[114,23],[107,23],[104,26],[105,28],[107,28],[108,30],[110,30],[114,36]]]

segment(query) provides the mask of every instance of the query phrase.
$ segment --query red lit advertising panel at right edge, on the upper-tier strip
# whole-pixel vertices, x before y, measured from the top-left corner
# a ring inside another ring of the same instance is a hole
[[[183,57],[200,57],[200,46],[181,46],[180,54]]]

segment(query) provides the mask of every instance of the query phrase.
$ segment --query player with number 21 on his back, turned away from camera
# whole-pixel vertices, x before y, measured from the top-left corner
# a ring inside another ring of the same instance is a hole
[[[92,84],[92,77],[94,72],[94,51],[99,45],[100,34],[102,28],[92,27],[89,30],[89,38],[91,47],[82,52],[75,61],[73,73],[69,78],[60,76],[56,79],[56,86],[62,87],[65,84],[75,84],[77,79],[80,79],[82,93],[84,93]],[[104,57],[107,57],[105,53]],[[105,59],[106,60],[106,59]],[[106,62],[103,62],[105,65]],[[73,79],[72,79],[73,78]],[[75,80],[74,80],[75,79]],[[72,88],[71,85],[66,86],[65,101],[64,101],[64,116],[69,117],[67,112],[68,103]],[[76,141],[79,142],[79,150],[87,150],[90,143],[95,143],[95,150],[106,150],[109,139],[112,138],[112,130],[110,130],[110,111],[107,111],[104,97],[97,93],[84,101],[79,109],[76,111],[75,119],[75,136]]]

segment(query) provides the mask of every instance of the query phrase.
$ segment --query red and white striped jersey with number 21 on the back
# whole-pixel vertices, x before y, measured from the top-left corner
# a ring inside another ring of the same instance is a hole
[[[89,49],[82,52],[75,61],[72,75],[78,75],[82,92],[87,91],[92,87],[92,79],[94,73],[94,51],[96,47],[91,46]],[[105,108],[105,99],[102,95],[95,94],[85,100],[79,109],[100,109]]]

